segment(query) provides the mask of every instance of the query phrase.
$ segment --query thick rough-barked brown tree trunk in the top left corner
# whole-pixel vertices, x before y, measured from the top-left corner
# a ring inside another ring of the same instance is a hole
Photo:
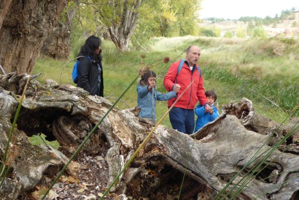
[[[7,73],[31,73],[68,0],[14,0],[0,29],[0,63]]]

